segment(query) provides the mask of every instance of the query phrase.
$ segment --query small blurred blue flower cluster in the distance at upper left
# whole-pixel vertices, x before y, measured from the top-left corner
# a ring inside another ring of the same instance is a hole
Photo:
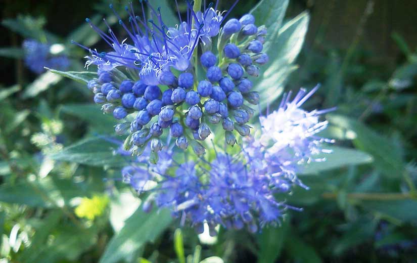
[[[45,71],[44,67],[65,70],[69,67],[69,60],[65,55],[51,54],[51,45],[34,39],[26,39],[22,44],[25,53],[25,65],[34,73]]]

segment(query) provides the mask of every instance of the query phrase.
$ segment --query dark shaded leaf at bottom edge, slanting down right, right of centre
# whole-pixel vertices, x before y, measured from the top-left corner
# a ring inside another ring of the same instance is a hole
[[[304,243],[294,233],[287,235],[285,250],[294,262],[319,263],[322,262],[320,256],[312,246]]]

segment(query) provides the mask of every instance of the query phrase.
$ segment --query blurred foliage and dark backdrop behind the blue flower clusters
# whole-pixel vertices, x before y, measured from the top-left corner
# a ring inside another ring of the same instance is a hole
[[[257,2],[241,1],[232,16]],[[290,2],[284,21],[307,10],[310,23],[298,69],[288,69],[281,84],[295,90],[321,83],[307,107],[338,106],[325,136],[360,152],[335,148],[328,162],[308,166],[300,177],[310,190],[287,198],[304,211],[290,211],[279,228],[257,235],[220,229],[216,238],[177,229],[165,210],[142,212],[141,200],[118,181],[126,160],[109,151],[117,143],[103,140],[114,121],[89,104],[82,80],[24,67],[21,43],[35,38],[64,45],[70,69],[82,71],[85,53],[70,40],[95,45],[99,37],[83,21],[115,23],[107,5],[3,1],[0,262],[417,260],[415,2]],[[298,19],[308,21],[306,13]]]

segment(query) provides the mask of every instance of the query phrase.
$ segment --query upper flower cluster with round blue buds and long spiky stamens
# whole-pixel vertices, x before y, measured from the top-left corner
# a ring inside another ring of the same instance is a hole
[[[255,26],[254,16],[247,14],[221,27],[228,12],[217,11],[212,4],[194,12],[187,2],[187,21],[179,16],[180,23],[168,27],[160,9],[146,1],[141,4],[142,17],[135,15],[133,5],[126,7],[128,24],[114,11],[130,43],[119,41],[110,26],[106,34],[89,19],[113,51],[99,53],[77,43],[91,53],[86,65],[99,69],[98,77],[88,82],[95,103],[125,120],[116,126],[116,133],[128,134],[126,149],[141,154],[151,144],[157,152],[163,146],[159,138],[169,130],[177,147],[185,150],[191,145],[201,156],[205,148],[199,141],[206,140],[215,125],[221,125],[229,145],[235,144],[238,134],[248,136],[246,123],[254,114],[249,105],[259,103],[248,77],[258,76],[258,65],[268,62],[262,53],[265,26]],[[145,6],[151,10],[150,19]],[[212,51],[216,36],[217,50]],[[199,45],[203,52],[194,61]],[[198,74],[196,63],[204,68],[204,76]]]

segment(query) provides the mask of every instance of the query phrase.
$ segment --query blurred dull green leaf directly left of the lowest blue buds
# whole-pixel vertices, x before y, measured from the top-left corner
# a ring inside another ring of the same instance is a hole
[[[114,133],[116,120],[111,115],[103,114],[96,104],[67,104],[62,106],[61,111],[88,122],[99,133]]]

